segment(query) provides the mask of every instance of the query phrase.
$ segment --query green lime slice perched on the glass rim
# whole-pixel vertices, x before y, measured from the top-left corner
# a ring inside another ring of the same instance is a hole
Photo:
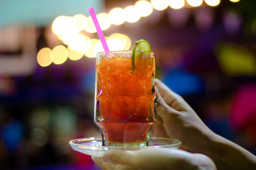
[[[136,57],[141,56],[143,52],[151,52],[150,45],[148,41],[140,39],[139,41],[136,41],[132,49],[132,68],[135,67]]]

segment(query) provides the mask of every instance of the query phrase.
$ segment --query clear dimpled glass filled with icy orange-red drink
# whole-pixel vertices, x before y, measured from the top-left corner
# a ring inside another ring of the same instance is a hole
[[[103,146],[148,146],[156,122],[153,52],[100,52],[96,59],[94,122]]]

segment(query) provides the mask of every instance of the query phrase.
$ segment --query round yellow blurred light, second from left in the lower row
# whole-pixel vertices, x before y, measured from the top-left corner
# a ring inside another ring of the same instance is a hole
[[[53,53],[53,60],[54,64],[63,64],[68,58],[68,51],[67,48],[63,45],[55,46],[52,49]]]

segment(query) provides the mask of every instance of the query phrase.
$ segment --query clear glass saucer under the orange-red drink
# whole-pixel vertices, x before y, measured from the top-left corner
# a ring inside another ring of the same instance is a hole
[[[179,148],[181,142],[177,139],[150,137],[148,146],[102,146],[102,138],[99,137],[73,139],[69,142],[69,145],[77,152],[102,157],[105,152],[111,149],[141,150],[148,147]]]

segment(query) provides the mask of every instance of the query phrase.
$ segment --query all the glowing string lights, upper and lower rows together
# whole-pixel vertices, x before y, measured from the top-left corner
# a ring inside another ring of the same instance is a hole
[[[190,6],[196,7],[203,3],[203,0],[186,0]],[[239,0],[230,0],[231,2],[238,2]],[[220,4],[220,0],[205,0],[205,3],[209,6],[217,6]],[[97,18],[102,30],[108,29],[111,24],[121,25],[125,20],[130,23],[137,22],[141,17],[147,17],[153,11],[165,10],[168,6],[173,9],[180,9],[184,7],[185,0],[140,0],[137,1],[134,6],[127,6],[124,8],[113,8],[109,13],[99,13]],[[83,14],[74,15],[74,17],[59,16],[52,22],[52,32],[58,36],[65,45],[68,46],[56,46],[54,49],[42,48],[38,52],[37,60],[40,66],[49,66],[51,62],[55,64],[62,64],[67,60],[79,60],[83,57],[95,57],[97,52],[104,51],[99,39],[90,39],[88,36],[80,33],[80,31],[87,31],[90,33],[97,32],[92,21],[92,17],[86,17]],[[131,39],[125,34],[111,34],[107,39],[107,43],[111,50],[129,50],[131,47]],[[65,48],[65,49],[64,49]],[[58,49],[58,50],[56,50]],[[63,58],[56,58],[61,51],[64,55]],[[53,53],[54,52],[54,53]],[[66,55],[67,54],[67,55]],[[44,56],[44,57],[42,57]]]

